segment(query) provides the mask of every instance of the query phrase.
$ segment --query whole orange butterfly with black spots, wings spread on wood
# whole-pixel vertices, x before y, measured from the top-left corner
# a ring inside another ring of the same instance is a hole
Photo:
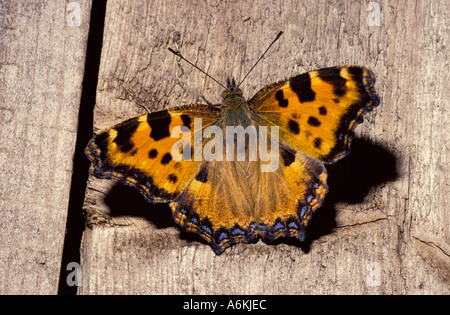
[[[216,254],[258,238],[303,241],[328,192],[324,164],[350,152],[356,125],[379,105],[374,84],[370,70],[344,65],[275,82],[247,101],[228,80],[221,104],[126,120],[97,134],[85,153],[96,177],[169,204],[175,223]],[[240,143],[237,132],[227,134],[239,126]]]

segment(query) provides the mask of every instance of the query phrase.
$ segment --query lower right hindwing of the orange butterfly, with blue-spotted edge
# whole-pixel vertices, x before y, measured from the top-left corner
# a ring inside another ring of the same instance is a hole
[[[280,145],[281,161],[274,172],[261,174],[257,208],[260,235],[305,238],[313,212],[328,192],[324,165],[301,152]]]

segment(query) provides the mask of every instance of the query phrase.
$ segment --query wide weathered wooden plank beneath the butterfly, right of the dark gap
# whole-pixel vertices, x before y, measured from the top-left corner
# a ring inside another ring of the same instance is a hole
[[[305,243],[240,244],[216,256],[164,206],[89,179],[80,294],[448,294],[449,2],[109,1],[96,131],[151,110],[219,102],[222,89],[165,50],[243,85],[357,64],[377,75],[381,106],[352,154],[329,166],[330,193]],[[370,10],[368,10],[370,9]],[[375,25],[374,25],[375,23]]]

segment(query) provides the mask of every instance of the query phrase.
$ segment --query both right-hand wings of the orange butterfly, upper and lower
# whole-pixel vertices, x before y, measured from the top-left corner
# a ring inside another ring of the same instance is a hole
[[[276,82],[248,102],[260,126],[279,127],[280,165],[257,193],[260,235],[300,240],[328,192],[323,163],[349,153],[354,128],[379,104],[374,75],[355,66],[311,71]]]

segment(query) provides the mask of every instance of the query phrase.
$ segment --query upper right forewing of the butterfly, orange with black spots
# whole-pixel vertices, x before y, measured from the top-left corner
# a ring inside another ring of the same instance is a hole
[[[361,67],[324,68],[269,85],[248,103],[260,125],[279,126],[281,142],[334,163],[349,153],[363,115],[378,106],[374,83]]]

